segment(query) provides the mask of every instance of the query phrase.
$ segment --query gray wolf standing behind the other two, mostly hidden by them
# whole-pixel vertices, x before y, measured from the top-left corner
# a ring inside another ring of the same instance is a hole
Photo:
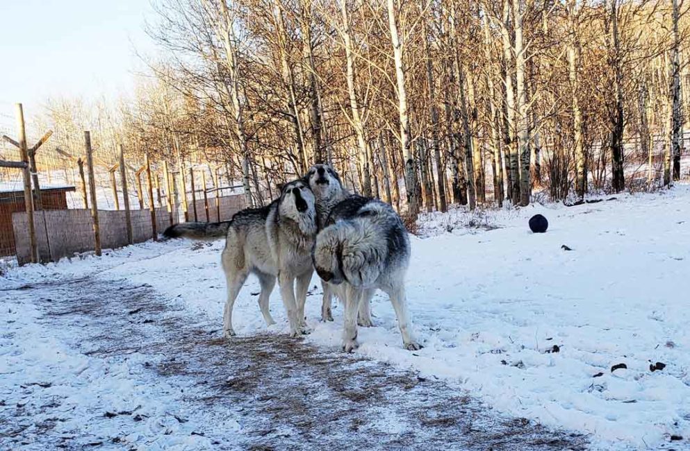
[[[318,230],[322,230],[326,226],[331,210],[352,194],[343,187],[338,172],[327,164],[313,165],[304,176],[304,180],[309,183],[309,187],[316,197],[316,222]],[[323,288],[321,321],[333,321],[331,305],[334,287],[324,280],[321,280],[321,286]],[[363,327],[372,326],[370,300],[361,303],[357,323]]]

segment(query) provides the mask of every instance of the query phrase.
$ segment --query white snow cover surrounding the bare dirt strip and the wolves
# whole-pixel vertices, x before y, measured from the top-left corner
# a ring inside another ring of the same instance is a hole
[[[527,228],[527,219],[536,213],[550,222],[546,234]],[[438,380],[501,415],[586,434],[592,449],[690,449],[689,186],[574,207],[430,214],[420,219],[420,236],[412,239],[407,288],[425,348],[402,349],[393,309],[377,295],[375,327],[359,329],[356,355]],[[134,370],[136,353],[115,368],[85,366],[90,357],[74,351],[80,326],[39,327],[35,304],[51,297],[50,284],[56,280],[126,280],[168,299],[190,321],[220,329],[222,246],[175,240],[131,246],[101,258],[6,268],[0,278],[0,321],[10,332],[0,337],[0,412],[17,402],[17,381],[25,381],[27,374],[41,383],[58,374],[84,377],[82,368],[88,368],[93,384],[70,393],[76,397],[77,416],[102,405],[98,397],[108,395],[117,395],[115,404],[130,409],[124,400],[142,396],[142,385],[147,399],[172,409],[175,398],[168,382]],[[33,297],[20,296],[17,289],[26,284],[46,286],[31,290]],[[88,284],[79,290],[88,293]],[[233,315],[240,339],[266,332],[257,293],[258,283],[250,278]],[[334,310],[334,323],[320,323],[320,293],[314,277],[307,300],[313,332],[306,343],[338,355],[342,307]],[[278,324],[268,332],[284,334],[277,290],[271,305]],[[651,371],[650,364],[657,362],[666,366]],[[627,368],[611,371],[618,364]],[[124,388],[116,383],[117,371],[130,376]],[[379,414],[388,429],[404,429],[390,413]],[[225,427],[240,434],[236,417],[229,412]],[[174,430],[208,421],[197,416],[176,423]],[[201,443],[196,439],[174,444],[195,449]]]

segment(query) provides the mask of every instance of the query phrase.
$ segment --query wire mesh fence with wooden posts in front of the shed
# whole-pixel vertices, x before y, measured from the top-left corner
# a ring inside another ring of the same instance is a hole
[[[9,133],[7,127],[0,127],[1,135]],[[31,137],[27,142],[32,142]],[[0,160],[22,161],[22,153],[16,146],[6,140],[2,143]],[[33,242],[38,261],[56,261],[96,248],[117,248],[155,239],[154,218],[155,230],[161,233],[167,226],[186,218],[228,220],[245,207],[241,190],[208,165],[179,171],[163,162],[145,166],[140,161],[124,159],[125,189],[119,162],[94,160],[91,184],[85,155],[74,155],[50,145],[42,146],[35,153],[30,199],[35,209],[33,235],[22,170],[0,168],[0,257],[16,257],[19,264],[31,262]],[[129,201],[129,223],[125,198]],[[92,213],[94,200],[98,238]]]

